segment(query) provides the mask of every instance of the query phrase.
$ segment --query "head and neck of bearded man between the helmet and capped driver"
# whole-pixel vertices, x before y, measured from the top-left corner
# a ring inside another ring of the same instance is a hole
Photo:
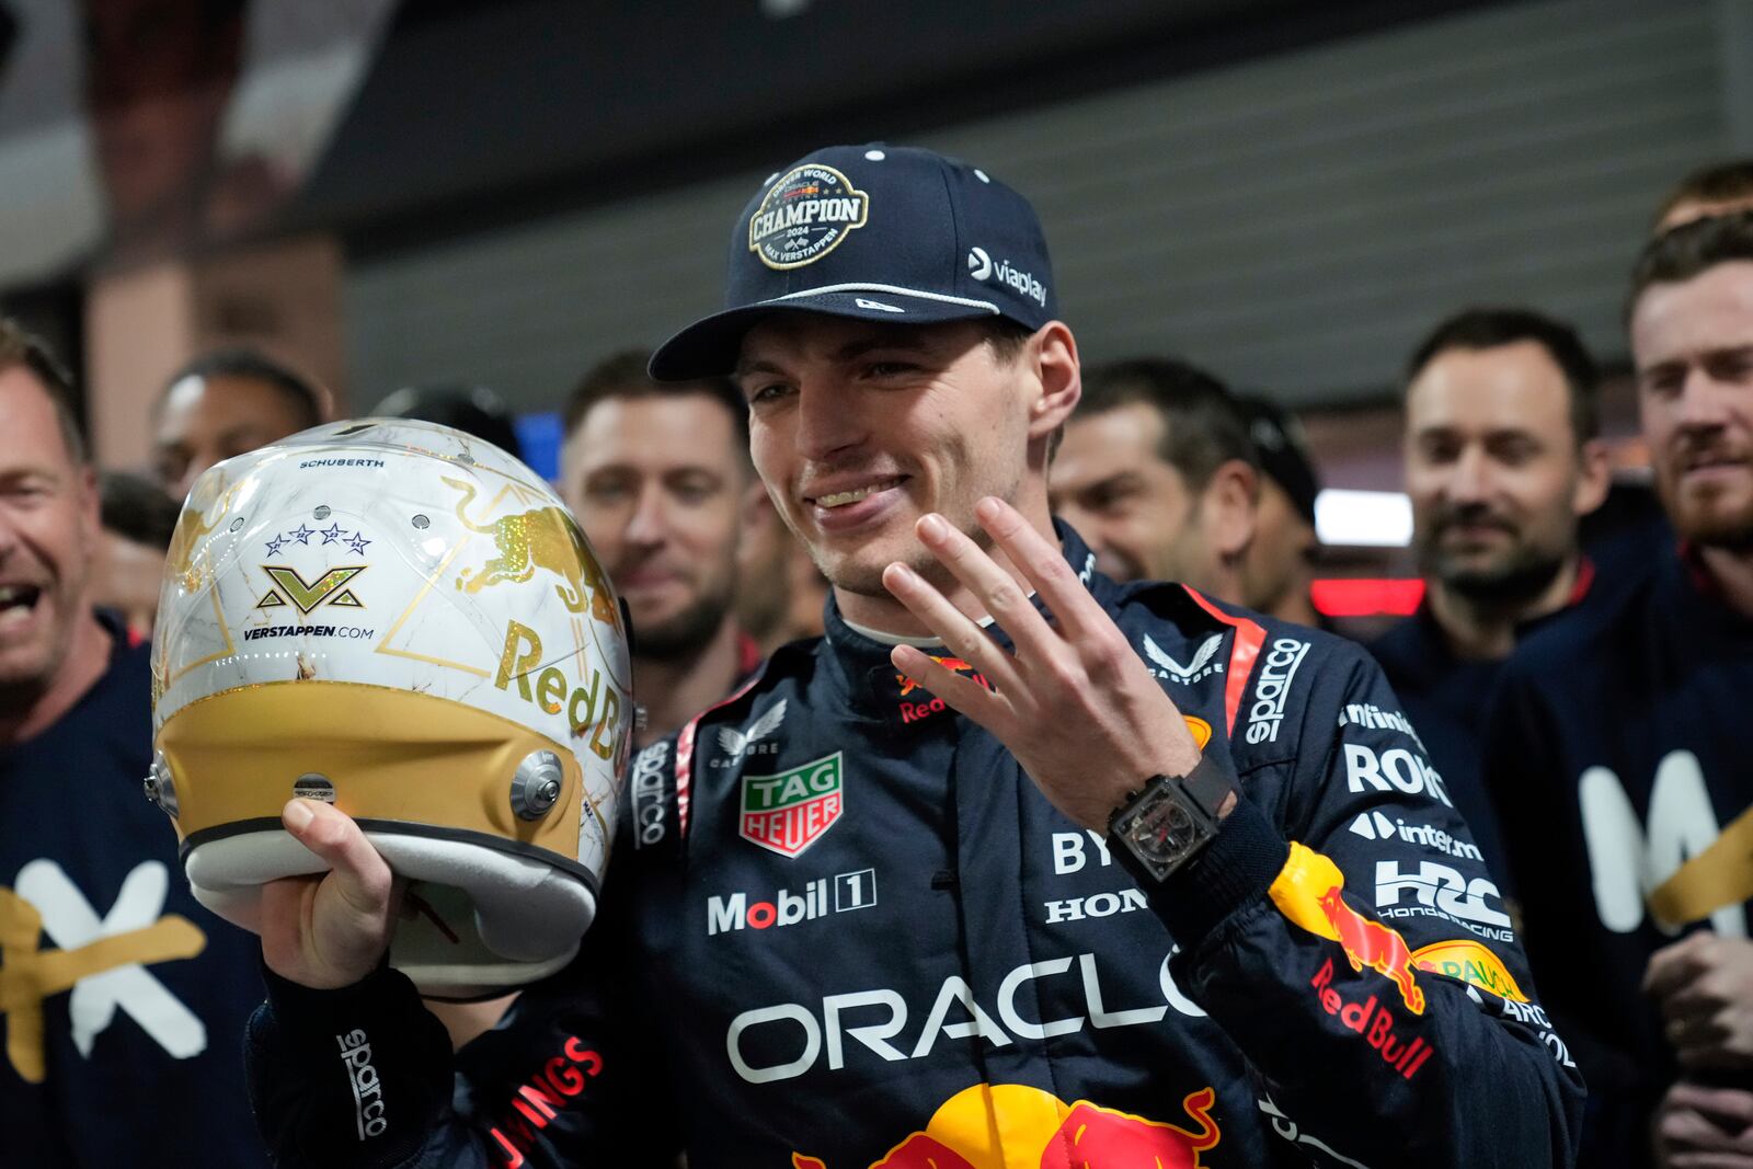
[[[559,471],[561,498],[633,617],[633,685],[647,715],[636,747],[761,662],[733,612],[736,550],[764,510],[749,408],[724,379],[657,382],[649,361],[649,351],[626,351],[584,375],[563,414]]]

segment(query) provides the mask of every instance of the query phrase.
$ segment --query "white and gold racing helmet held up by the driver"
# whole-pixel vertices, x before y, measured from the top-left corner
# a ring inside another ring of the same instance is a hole
[[[391,966],[487,994],[564,966],[596,913],[629,684],[608,578],[529,468],[445,426],[333,422],[189,492],[147,794],[245,929],[265,882],[324,868],[280,808],[331,801],[408,882]]]

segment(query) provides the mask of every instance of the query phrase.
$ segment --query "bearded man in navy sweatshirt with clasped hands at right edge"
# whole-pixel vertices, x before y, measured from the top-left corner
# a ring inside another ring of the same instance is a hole
[[[1588,1074],[1597,1164],[1648,1164],[1665,1092],[1660,1164],[1748,1165],[1753,214],[1651,240],[1629,331],[1679,547],[1516,650],[1487,776],[1529,953]],[[1709,929],[1674,941],[1693,924]]]

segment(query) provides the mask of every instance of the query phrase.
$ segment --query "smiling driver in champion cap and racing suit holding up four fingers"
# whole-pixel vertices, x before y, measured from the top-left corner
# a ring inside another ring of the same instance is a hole
[[[461,1081],[384,966],[382,857],[291,801],[331,871],[263,890],[279,1164],[1567,1165],[1581,1087],[1441,782],[1352,717],[1374,664],[1115,584],[1048,515],[1082,382],[1022,196],[815,151],[738,219],[726,300],[652,372],[735,370],[826,636],[635,759],[614,920]],[[1348,831],[1390,813],[1423,832]]]

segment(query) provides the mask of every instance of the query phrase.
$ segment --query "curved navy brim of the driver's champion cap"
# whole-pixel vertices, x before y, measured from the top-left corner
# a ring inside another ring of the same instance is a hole
[[[780,312],[813,312],[898,324],[938,324],[1003,315],[992,301],[912,293],[887,286],[782,296],[701,317],[657,347],[650,359],[650,375],[659,382],[724,377],[736,370],[736,358],[749,329]]]

